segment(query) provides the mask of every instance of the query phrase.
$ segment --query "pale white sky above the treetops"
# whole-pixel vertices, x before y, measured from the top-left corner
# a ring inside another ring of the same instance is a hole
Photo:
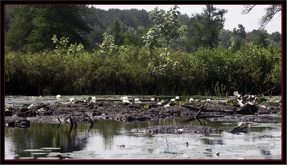
[[[165,11],[169,10],[170,7],[173,5],[93,5],[96,8],[108,10],[110,8],[113,9],[144,9],[146,11],[151,11],[154,9],[154,7],[158,7],[159,9],[163,9]],[[243,9],[243,5],[214,5],[214,7],[218,9],[227,9],[228,13],[225,15],[225,23],[224,23],[224,29],[232,31],[234,27],[238,29],[238,24],[242,24],[245,27],[246,32],[250,32],[253,29],[258,29],[258,20],[261,18],[261,16],[265,13],[264,8],[268,7],[269,5],[256,5],[248,14],[241,14],[241,11]],[[187,15],[191,16],[195,13],[201,13],[203,11],[203,8],[205,5],[178,5],[180,11],[182,14],[186,13]],[[265,27],[265,30],[267,30],[267,33],[271,34],[273,32],[281,31],[281,15],[277,13],[273,20],[270,21],[267,26]]]

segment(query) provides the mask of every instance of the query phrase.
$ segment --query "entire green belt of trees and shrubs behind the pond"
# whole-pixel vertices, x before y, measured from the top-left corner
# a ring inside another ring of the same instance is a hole
[[[280,33],[268,39],[264,29],[224,30],[228,11],[212,5],[191,17],[176,5],[151,13],[85,5],[9,7],[6,95],[226,96],[274,86],[273,94],[281,93]]]

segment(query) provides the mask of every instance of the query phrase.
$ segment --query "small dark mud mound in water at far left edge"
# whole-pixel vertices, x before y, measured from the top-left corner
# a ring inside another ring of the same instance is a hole
[[[30,127],[30,121],[26,118],[20,118],[16,116],[5,116],[5,127],[18,127],[26,128]]]

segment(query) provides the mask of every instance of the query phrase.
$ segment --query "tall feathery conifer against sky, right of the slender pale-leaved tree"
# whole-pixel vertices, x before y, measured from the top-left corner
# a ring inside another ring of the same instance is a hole
[[[218,46],[219,31],[224,27],[225,9],[217,9],[213,5],[206,5],[203,13],[193,16],[195,22],[189,30],[189,43],[197,49],[198,47],[210,47],[210,49]]]

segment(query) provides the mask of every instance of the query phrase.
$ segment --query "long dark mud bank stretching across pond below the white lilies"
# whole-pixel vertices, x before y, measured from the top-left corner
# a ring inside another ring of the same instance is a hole
[[[201,106],[203,102],[187,103],[187,105]],[[143,109],[144,106],[149,105],[149,110]],[[277,105],[271,105],[276,107]],[[279,106],[279,105],[278,105]],[[224,103],[209,102],[206,108],[233,110],[234,106]],[[280,110],[276,108],[262,108],[259,107],[258,114],[277,114]],[[6,117],[16,116],[26,118],[31,122],[45,122],[45,123],[59,123],[58,118],[62,124],[69,124],[69,116],[75,119],[76,122],[85,122],[91,119],[113,119],[124,122],[139,122],[149,120],[160,120],[168,117],[194,117],[196,111],[191,111],[181,106],[160,106],[156,102],[145,102],[141,104],[128,104],[122,102],[96,102],[96,103],[75,103],[75,104],[39,104],[31,108],[11,108],[5,111]],[[221,112],[204,112],[200,116],[218,116],[229,115],[229,113]],[[238,118],[238,117],[234,117]],[[254,117],[259,118],[259,117]],[[248,118],[245,118],[248,120]],[[256,121],[256,120],[252,121]],[[238,120],[241,120],[240,118]],[[245,121],[246,121],[245,120]],[[237,120],[229,120],[237,121]]]

